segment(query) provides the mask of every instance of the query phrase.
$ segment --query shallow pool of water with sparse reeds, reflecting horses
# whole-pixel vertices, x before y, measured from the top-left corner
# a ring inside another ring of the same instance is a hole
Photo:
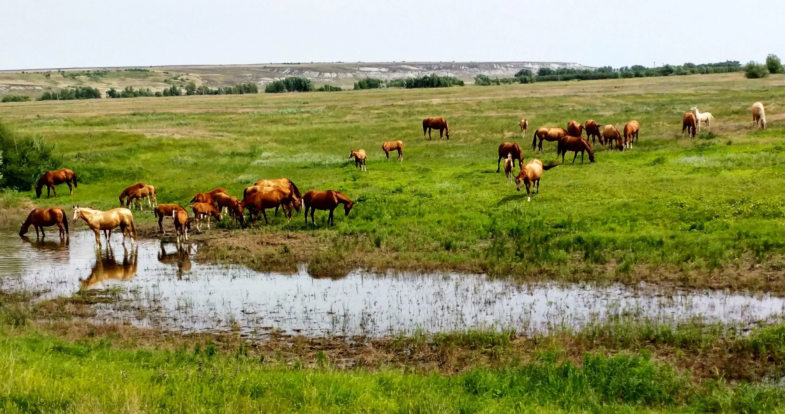
[[[98,321],[181,329],[234,327],[250,336],[271,329],[308,336],[384,336],[514,328],[544,332],[632,314],[667,323],[703,318],[748,324],[785,314],[785,299],[704,290],[660,291],[622,285],[518,285],[477,274],[376,274],[340,279],[251,271],[195,263],[197,246],[143,240],[130,247],[113,236],[95,249],[93,234],[68,243],[0,235],[0,289],[70,296],[79,289],[114,289],[120,299],[99,305]],[[117,289],[119,288],[119,289]]]

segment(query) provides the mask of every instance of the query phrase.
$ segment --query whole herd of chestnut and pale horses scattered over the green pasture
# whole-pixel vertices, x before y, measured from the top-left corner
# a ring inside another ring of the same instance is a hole
[[[765,129],[765,108],[760,102],[753,104],[752,118],[755,127]],[[710,129],[713,121],[714,116],[712,114],[700,112],[698,107],[692,107],[682,118],[681,134],[684,135],[686,131],[688,136],[696,136],[696,130],[699,131],[702,124]],[[521,119],[518,125],[521,136],[525,139],[528,119]],[[433,129],[439,130],[440,140],[444,139],[444,137],[450,140],[450,128],[447,125],[447,120],[444,118],[425,118],[422,121],[423,136],[427,135],[429,140],[431,139],[430,133]],[[609,148],[615,146],[619,151],[623,151],[624,149],[632,148],[633,143],[638,142],[640,130],[641,124],[637,120],[627,122],[624,125],[623,133],[619,133],[619,129],[615,125],[600,125],[593,119],[588,119],[583,124],[570,121],[567,124],[567,129],[543,126],[535,130],[531,141],[531,149],[539,148],[539,151],[542,152],[543,141],[557,142],[557,156],[561,156],[561,162],[543,164],[542,161],[534,158],[524,165],[524,155],[520,145],[515,142],[504,142],[498,146],[496,172],[500,171],[502,160],[504,160],[504,172],[507,182],[513,181],[514,177],[517,191],[520,191],[522,186],[526,187],[527,199],[531,201],[531,190],[534,189],[535,193],[539,193],[539,182],[542,178],[542,172],[564,163],[564,156],[568,151],[574,153],[573,163],[578,158],[578,153],[581,154],[581,164],[584,162],[584,154],[588,154],[589,161],[594,162],[595,157],[592,145],[597,143],[597,140],[600,141],[601,145],[608,145]],[[583,136],[584,131],[586,132],[586,137]],[[385,152],[387,161],[389,161],[389,153],[397,151],[398,161],[403,162],[402,140],[382,143],[382,151]],[[367,154],[365,150],[352,150],[349,153],[349,159],[352,158],[355,161],[355,168],[359,168],[360,171],[367,171]],[[516,161],[518,162],[520,172],[517,176],[513,176]],[[68,185],[70,194],[73,194],[74,188],[77,187],[75,172],[70,169],[46,172],[36,183],[35,195],[40,198],[42,189],[46,186],[46,196],[49,197],[51,191],[57,197],[55,187],[63,183]],[[300,212],[304,208],[305,223],[308,223],[309,212],[311,213],[312,223],[316,223],[314,213],[316,210],[323,210],[329,212],[327,223],[333,226],[334,210],[338,208],[338,205],[344,206],[345,216],[349,216],[349,212],[354,205],[354,202],[349,197],[334,190],[311,190],[301,194],[292,180],[283,177],[278,180],[257,181],[253,186],[246,187],[243,190],[242,199],[229,195],[224,188],[197,193],[190,202],[190,207],[193,211],[193,216],[190,216],[188,211],[179,204],[158,204],[155,186],[147,183],[136,183],[120,193],[119,202],[121,207],[101,211],[74,205],[72,220],[82,219],[87,223],[88,227],[95,233],[96,243],[99,248],[101,246],[100,231],[104,231],[104,238],[108,241],[111,231],[118,227],[122,232],[123,244],[126,238],[130,238],[133,242],[133,239],[137,237],[137,232],[133,223],[133,212],[131,209],[133,209],[134,203],[136,203],[141,211],[144,209],[145,201],[148,207],[153,209],[153,214],[158,219],[159,231],[163,234],[166,234],[163,228],[164,217],[173,219],[173,227],[178,244],[181,238],[188,240],[188,231],[191,230],[192,223],[195,223],[196,229],[201,231],[200,224],[206,220],[207,228],[209,229],[210,220],[222,220],[225,213],[228,214],[231,220],[245,225],[247,212],[247,220],[250,220],[252,225],[254,225],[259,220],[260,215],[264,216],[265,223],[269,223],[267,217],[268,209],[275,209],[275,214],[278,213],[279,208],[283,209],[285,216],[292,220],[292,210]],[[28,214],[27,219],[24,220],[24,223],[22,223],[19,235],[24,237],[30,226],[35,227],[37,237],[39,231],[41,237],[43,237],[44,227],[51,226],[58,227],[61,238],[68,237],[68,216],[65,210],[60,207],[33,209]]]

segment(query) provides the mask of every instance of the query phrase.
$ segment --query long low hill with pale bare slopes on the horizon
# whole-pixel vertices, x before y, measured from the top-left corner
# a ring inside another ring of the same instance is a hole
[[[383,62],[383,63],[311,63],[311,64],[249,64],[249,65],[183,65],[143,67],[89,67],[67,69],[37,69],[30,71],[0,71],[0,95],[9,93],[38,96],[48,89],[86,85],[100,89],[150,88],[160,90],[170,85],[206,83],[212,87],[256,82],[263,85],[287,76],[305,76],[317,86],[338,85],[351,89],[360,78],[412,78],[425,74],[449,74],[473,82],[477,74],[491,78],[509,77],[523,68],[532,71],[540,67],[558,69],[572,67],[593,69],[582,64],[563,62]]]

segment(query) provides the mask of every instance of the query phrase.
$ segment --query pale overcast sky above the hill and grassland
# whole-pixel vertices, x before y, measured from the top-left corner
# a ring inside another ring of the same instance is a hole
[[[0,69],[785,58],[785,2],[0,0]]]

